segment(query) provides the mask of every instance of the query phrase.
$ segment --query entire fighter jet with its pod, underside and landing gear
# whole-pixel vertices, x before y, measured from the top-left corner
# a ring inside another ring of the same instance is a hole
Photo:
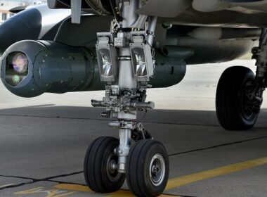
[[[146,101],[147,89],[178,84],[186,65],[252,51],[256,75],[243,66],[228,68],[216,91],[221,126],[251,129],[267,86],[266,18],[266,0],[48,0],[1,25],[1,80],[23,97],[105,90],[91,105],[104,108],[100,116],[110,118],[119,139],[91,143],[86,184],[109,193],[126,179],[136,196],[159,196],[169,159],[137,120],[139,111],[155,108]]]

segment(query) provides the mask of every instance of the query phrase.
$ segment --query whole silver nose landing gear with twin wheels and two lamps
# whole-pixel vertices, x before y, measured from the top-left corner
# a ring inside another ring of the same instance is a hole
[[[164,146],[152,139],[137,112],[155,108],[146,102],[146,89],[154,75],[152,48],[156,17],[137,15],[139,1],[122,1],[110,32],[98,33],[96,52],[100,79],[106,83],[105,98],[92,100],[105,107],[102,117],[117,118],[110,127],[119,129],[119,140],[101,137],[89,146],[84,161],[86,183],[93,191],[118,190],[125,179],[137,196],[158,196],[169,177],[169,160]],[[131,139],[137,141],[131,148]]]

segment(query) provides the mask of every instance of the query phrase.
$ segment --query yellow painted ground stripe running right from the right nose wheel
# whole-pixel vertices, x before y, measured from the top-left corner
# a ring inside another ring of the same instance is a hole
[[[248,160],[242,163],[236,163],[233,165],[227,165],[224,167],[219,167],[214,170],[207,170],[204,172],[198,172],[195,174],[185,175],[183,177],[177,177],[174,179],[169,179],[166,190],[174,189],[178,186],[184,186],[187,184],[192,184],[195,182],[200,182],[204,179],[211,179],[214,177],[223,176],[226,174],[230,174],[233,172],[238,172],[241,170],[247,170],[253,167],[257,167],[260,165],[267,164],[267,157],[266,158],[259,158],[255,160]]]

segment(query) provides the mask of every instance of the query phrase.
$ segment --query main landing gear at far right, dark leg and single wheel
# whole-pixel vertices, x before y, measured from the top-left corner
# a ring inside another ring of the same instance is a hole
[[[221,126],[228,130],[251,129],[256,124],[267,87],[267,30],[263,29],[259,47],[252,49],[256,76],[242,66],[223,72],[216,91],[216,113]]]

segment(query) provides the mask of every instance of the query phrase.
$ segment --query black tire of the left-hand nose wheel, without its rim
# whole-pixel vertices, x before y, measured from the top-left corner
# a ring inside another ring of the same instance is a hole
[[[110,193],[121,188],[125,181],[125,174],[113,174],[115,180],[108,175],[108,158],[114,148],[119,146],[119,140],[103,136],[91,143],[84,158],[84,178],[91,190],[100,193]]]

